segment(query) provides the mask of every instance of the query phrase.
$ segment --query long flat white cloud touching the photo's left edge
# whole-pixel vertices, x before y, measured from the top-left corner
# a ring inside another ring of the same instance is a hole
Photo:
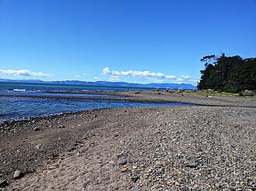
[[[26,76],[26,77],[52,77],[53,74],[42,72],[32,72],[30,70],[0,70],[0,75]]]

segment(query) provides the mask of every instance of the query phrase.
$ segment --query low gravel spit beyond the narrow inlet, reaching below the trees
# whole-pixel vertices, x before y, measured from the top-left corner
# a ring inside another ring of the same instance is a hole
[[[53,91],[47,91],[52,92]],[[255,97],[234,97],[217,95],[199,95],[182,93],[169,93],[157,91],[87,91],[85,93],[77,92],[58,92],[58,94],[102,94],[116,97],[59,97],[59,96],[29,96],[29,95],[0,95],[0,97],[33,97],[43,99],[71,99],[71,100],[111,100],[111,101],[133,101],[149,103],[184,103],[198,104],[202,106],[227,106],[227,107],[256,107]]]

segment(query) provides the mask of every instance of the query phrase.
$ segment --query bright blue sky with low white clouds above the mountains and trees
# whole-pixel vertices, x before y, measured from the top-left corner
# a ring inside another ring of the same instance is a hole
[[[0,78],[196,84],[256,56],[255,0],[0,0]]]

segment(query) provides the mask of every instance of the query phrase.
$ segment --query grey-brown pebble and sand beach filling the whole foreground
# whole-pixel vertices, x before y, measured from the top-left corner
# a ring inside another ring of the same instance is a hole
[[[196,105],[96,109],[0,124],[0,189],[256,189],[254,97],[97,94],[121,97],[85,99]]]

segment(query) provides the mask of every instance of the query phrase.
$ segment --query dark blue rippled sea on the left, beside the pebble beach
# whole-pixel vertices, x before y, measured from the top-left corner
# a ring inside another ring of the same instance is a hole
[[[113,107],[159,107],[185,104],[154,104],[131,101],[85,100],[79,97],[112,97],[102,94],[86,94],[87,91],[125,91],[129,87],[96,87],[70,84],[34,84],[0,82],[0,123],[22,120],[50,114],[62,114],[71,111],[86,111]],[[153,88],[129,88],[130,90],[152,90]],[[50,93],[49,93],[50,91]],[[61,92],[74,94],[61,94]],[[84,92],[83,94],[75,94]],[[53,94],[54,93],[54,94]],[[6,96],[7,95],[7,96]],[[9,97],[13,96],[13,97]],[[17,96],[17,97],[16,97]],[[29,97],[19,97],[29,96]],[[35,96],[35,97],[33,97]],[[47,98],[38,98],[47,97]],[[76,97],[77,99],[65,99]]]

